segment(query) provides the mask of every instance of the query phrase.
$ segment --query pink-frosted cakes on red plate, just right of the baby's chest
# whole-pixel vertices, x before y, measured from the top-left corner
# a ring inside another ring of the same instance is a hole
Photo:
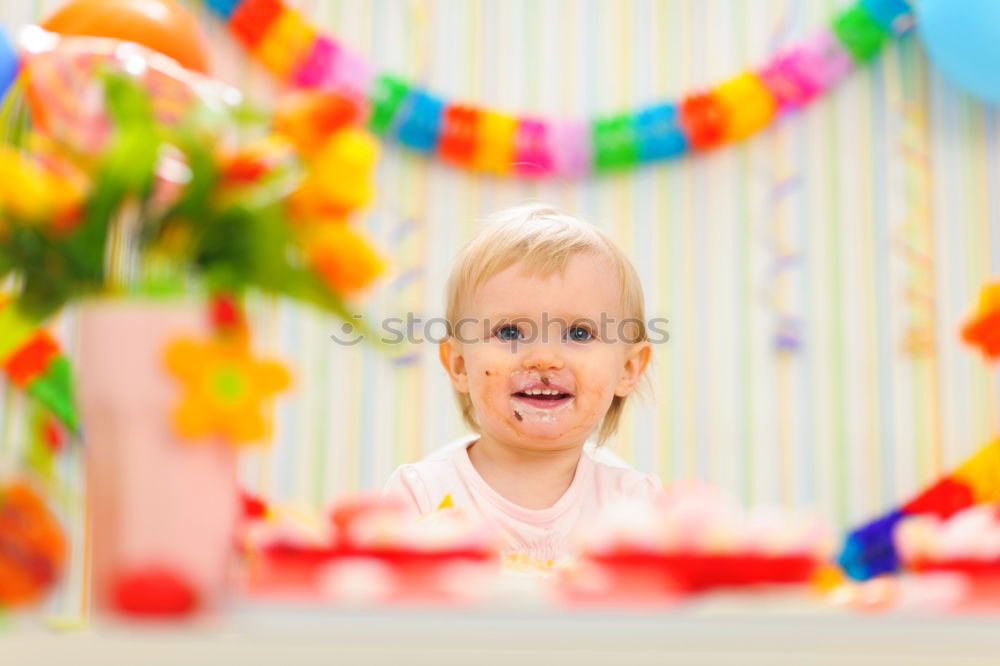
[[[629,601],[804,583],[832,546],[832,534],[814,518],[744,510],[710,487],[681,484],[652,502],[609,507],[578,535],[580,557],[561,583],[570,598]]]

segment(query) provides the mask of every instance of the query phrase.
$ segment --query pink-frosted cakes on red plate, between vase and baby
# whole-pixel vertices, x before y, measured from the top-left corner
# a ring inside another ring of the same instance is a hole
[[[341,498],[319,534],[280,521],[247,534],[253,587],[264,592],[291,587],[338,601],[463,602],[484,594],[498,568],[492,533],[464,512],[442,506],[414,518],[377,494]]]

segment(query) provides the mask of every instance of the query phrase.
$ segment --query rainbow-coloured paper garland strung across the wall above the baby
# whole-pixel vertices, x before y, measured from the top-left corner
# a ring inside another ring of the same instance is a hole
[[[376,75],[281,0],[205,1],[279,78],[364,102],[375,133],[457,166],[534,178],[621,169],[743,139],[812,101],[914,25],[907,0],[860,0],[828,28],[714,89],[585,122],[514,116]]]

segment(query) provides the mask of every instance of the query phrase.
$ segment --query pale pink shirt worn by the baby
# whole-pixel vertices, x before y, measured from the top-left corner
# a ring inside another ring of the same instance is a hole
[[[385,491],[411,502],[419,515],[434,511],[451,495],[454,506],[478,513],[493,528],[505,544],[503,553],[557,560],[569,554],[577,528],[596,519],[605,506],[622,498],[652,497],[662,488],[653,475],[598,462],[584,451],[563,496],[547,509],[526,509],[502,497],[479,476],[468,451],[476,439],[402,465]]]

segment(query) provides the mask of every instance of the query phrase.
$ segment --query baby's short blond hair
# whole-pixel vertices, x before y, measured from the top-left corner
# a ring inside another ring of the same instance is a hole
[[[647,339],[646,312],[639,275],[614,241],[597,227],[545,204],[526,204],[498,211],[484,220],[483,228],[455,258],[445,287],[445,317],[454,331],[468,299],[497,273],[523,262],[532,276],[547,278],[563,272],[574,255],[594,254],[608,260],[612,275],[621,289],[620,302],[626,320],[635,328],[631,342]],[[468,393],[455,391],[462,420],[474,432],[479,421]],[[614,434],[621,420],[627,396],[616,395],[598,429],[597,442],[603,444]]]

